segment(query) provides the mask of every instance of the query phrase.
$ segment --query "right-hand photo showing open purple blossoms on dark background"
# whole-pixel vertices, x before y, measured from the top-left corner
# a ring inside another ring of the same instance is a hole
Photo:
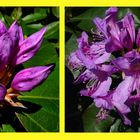
[[[139,132],[140,8],[65,8],[65,131]]]

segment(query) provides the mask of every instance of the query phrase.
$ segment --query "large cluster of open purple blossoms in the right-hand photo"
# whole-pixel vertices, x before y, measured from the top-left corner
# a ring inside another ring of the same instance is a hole
[[[68,64],[72,71],[83,68],[74,81],[86,85],[80,91],[82,96],[91,97],[101,112],[115,110],[124,124],[131,125],[132,106],[137,105],[140,114],[140,29],[135,29],[133,14],[117,20],[117,13],[118,9],[112,7],[105,18],[93,19],[97,27],[92,30],[93,42],[83,32]],[[118,75],[121,82],[114,84]],[[107,115],[97,116],[104,119]]]

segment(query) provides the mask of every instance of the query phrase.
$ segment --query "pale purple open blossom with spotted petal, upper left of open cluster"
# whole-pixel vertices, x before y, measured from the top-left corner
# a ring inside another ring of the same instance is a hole
[[[95,68],[95,64],[101,64],[107,61],[110,53],[105,51],[104,43],[96,43],[89,45],[88,36],[85,32],[78,39],[77,57],[81,60],[88,69]]]

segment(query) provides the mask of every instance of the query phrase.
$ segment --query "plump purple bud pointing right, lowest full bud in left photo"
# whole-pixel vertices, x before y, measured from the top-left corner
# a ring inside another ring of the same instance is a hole
[[[11,87],[18,91],[32,90],[49,76],[52,66],[36,66],[20,71],[14,77]]]

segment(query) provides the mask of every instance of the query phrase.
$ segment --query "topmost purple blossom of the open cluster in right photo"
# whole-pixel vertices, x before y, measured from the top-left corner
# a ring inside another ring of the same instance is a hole
[[[109,8],[105,18],[95,18],[95,25],[104,35],[107,52],[114,52],[124,48],[131,50],[135,41],[134,18],[127,14],[123,19],[117,20],[117,8]]]

